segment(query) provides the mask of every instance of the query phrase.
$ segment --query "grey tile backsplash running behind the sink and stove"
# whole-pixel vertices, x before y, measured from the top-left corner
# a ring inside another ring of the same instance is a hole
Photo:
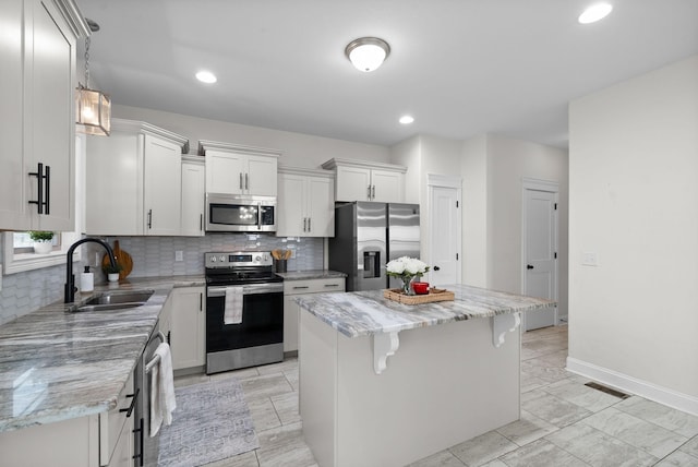
[[[205,237],[109,237],[113,246],[133,259],[129,277],[182,276],[204,274],[204,253],[207,251],[269,251],[293,249],[296,258],[288,261],[288,271],[322,270],[324,240],[322,238],[286,238],[272,235],[208,234]],[[104,249],[94,243],[81,247],[83,256],[75,264],[80,274],[86,264],[101,264]],[[182,261],[174,261],[176,252]],[[93,270],[95,283],[106,282],[100,268]],[[65,266],[51,266],[2,277],[0,290],[0,324],[29,313],[63,297]]]

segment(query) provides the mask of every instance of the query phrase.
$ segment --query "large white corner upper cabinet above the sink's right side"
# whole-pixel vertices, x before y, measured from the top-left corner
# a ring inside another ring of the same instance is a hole
[[[178,236],[185,137],[152,124],[111,120],[87,137],[86,232]]]

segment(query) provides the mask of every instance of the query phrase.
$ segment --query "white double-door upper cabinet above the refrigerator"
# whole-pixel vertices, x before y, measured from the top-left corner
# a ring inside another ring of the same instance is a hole
[[[405,202],[407,167],[353,159],[329,159],[324,169],[335,170],[337,201]]]

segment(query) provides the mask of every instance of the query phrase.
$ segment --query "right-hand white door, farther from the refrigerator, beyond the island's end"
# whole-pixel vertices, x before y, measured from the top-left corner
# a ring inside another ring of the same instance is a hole
[[[557,194],[525,190],[524,294],[555,300],[557,298]],[[525,331],[555,325],[555,308],[526,313]]]

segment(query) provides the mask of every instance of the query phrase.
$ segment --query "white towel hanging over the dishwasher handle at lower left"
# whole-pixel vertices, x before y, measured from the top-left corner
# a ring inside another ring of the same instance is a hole
[[[163,422],[172,422],[172,411],[177,408],[170,346],[167,343],[157,346],[153,355],[156,357],[159,361],[151,369],[151,438],[157,434]]]

